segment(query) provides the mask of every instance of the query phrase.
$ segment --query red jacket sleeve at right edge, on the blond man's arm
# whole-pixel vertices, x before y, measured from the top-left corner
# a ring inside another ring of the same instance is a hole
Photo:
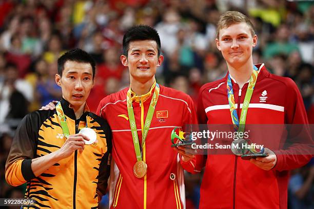
[[[287,79],[289,94],[285,100],[285,123],[288,124],[288,142],[291,144],[282,150],[275,150],[278,171],[291,170],[305,165],[313,157],[313,141],[311,139],[308,120],[301,93],[296,83]]]

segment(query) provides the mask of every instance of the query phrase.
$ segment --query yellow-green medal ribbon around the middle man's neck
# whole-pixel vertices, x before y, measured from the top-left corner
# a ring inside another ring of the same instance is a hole
[[[156,88],[154,90],[154,94],[152,96],[152,99],[150,101],[148,113],[145,119],[145,124],[143,127],[143,134],[142,134],[142,148],[145,143],[145,139],[148,134],[148,130],[150,127],[151,119],[155,111],[155,107],[158,101],[159,97],[159,92],[160,92],[160,86],[158,83],[154,83],[156,85]],[[154,86],[153,85],[153,86]],[[153,88],[153,87],[152,87]],[[127,92],[127,107],[128,107],[128,115],[129,115],[129,122],[130,122],[130,127],[131,127],[131,132],[132,132],[132,138],[133,138],[133,143],[134,143],[134,149],[135,149],[135,154],[136,154],[136,159],[138,161],[142,160],[142,153],[140,150],[140,143],[139,143],[139,136],[138,136],[138,130],[136,129],[136,122],[135,122],[135,117],[134,117],[134,111],[133,111],[133,106],[132,106],[132,94],[131,94],[131,87],[129,88]],[[143,105],[143,104],[142,104]]]

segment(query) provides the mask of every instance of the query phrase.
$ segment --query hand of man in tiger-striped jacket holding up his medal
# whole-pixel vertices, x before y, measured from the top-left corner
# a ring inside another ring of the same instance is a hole
[[[89,138],[83,134],[70,135],[62,145],[58,152],[58,157],[61,159],[69,157],[75,150],[83,152],[85,143],[84,140],[89,141]]]

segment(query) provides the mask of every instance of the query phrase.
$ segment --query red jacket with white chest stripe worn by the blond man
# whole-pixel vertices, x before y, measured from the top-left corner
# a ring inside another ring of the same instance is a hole
[[[258,68],[260,66],[257,65]],[[197,108],[199,123],[232,124],[226,82],[227,77],[207,83],[201,88]],[[232,86],[235,102],[243,103],[248,83],[242,88],[241,97],[238,96],[239,86],[233,81]],[[265,102],[260,98],[264,91],[267,91]],[[308,123],[295,82],[290,78],[270,74],[265,67],[259,73],[250,105],[252,106],[248,109],[246,127],[249,124],[278,124],[280,127],[284,123]],[[276,129],[277,126],[273,125]],[[231,151],[226,155],[213,155],[208,151],[211,155],[207,155],[207,159],[197,155],[190,162],[181,162],[183,168],[191,173],[199,172],[205,166],[200,208],[287,208],[288,170],[305,165],[312,157],[312,152],[305,145],[296,145],[297,141],[291,141],[294,145],[284,150],[282,146],[287,134],[285,129],[260,132],[271,132],[274,135],[254,142],[265,144],[265,147],[278,148],[274,151],[277,164],[270,171],[259,169],[249,161],[233,155]],[[304,134],[307,142],[312,144],[309,133],[304,131]],[[258,138],[258,134],[253,136],[253,140]],[[228,144],[231,141],[232,139]]]

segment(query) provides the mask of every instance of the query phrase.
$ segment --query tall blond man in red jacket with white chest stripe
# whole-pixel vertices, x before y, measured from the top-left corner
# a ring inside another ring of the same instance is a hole
[[[252,48],[257,40],[250,20],[242,13],[229,11],[220,17],[216,44],[227,62],[228,73],[201,88],[199,123],[233,124],[238,132],[245,130],[245,124],[283,127],[308,123],[295,82],[270,74],[264,64],[253,65]],[[309,133],[304,135],[307,141],[303,143],[312,144]],[[205,166],[200,208],[286,208],[288,170],[305,165],[313,152],[310,146],[296,143],[283,149],[281,137],[264,138],[262,143],[271,141],[272,150],[265,148],[266,157],[250,160],[231,152],[212,155],[208,150],[207,156],[191,156],[183,148],[178,149],[187,171],[200,172]]]

